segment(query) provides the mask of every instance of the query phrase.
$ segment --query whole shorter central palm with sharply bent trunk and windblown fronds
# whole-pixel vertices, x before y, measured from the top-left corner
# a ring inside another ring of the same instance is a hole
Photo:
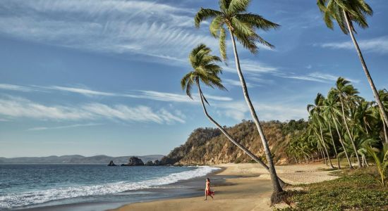
[[[238,143],[238,141],[234,140],[232,136],[226,132],[224,127],[222,127],[221,124],[216,122],[209,115],[209,113],[207,113],[205,103],[208,104],[208,102],[200,87],[201,82],[212,88],[217,87],[222,90],[225,89],[225,87],[222,85],[222,80],[218,76],[220,73],[222,73],[222,68],[216,64],[216,62],[221,61],[221,59],[218,56],[212,56],[211,53],[212,50],[205,46],[205,44],[199,44],[195,47],[195,49],[193,49],[193,51],[191,51],[189,60],[193,70],[188,72],[188,74],[186,74],[181,79],[181,87],[183,90],[186,90],[186,94],[192,98],[191,90],[193,85],[196,85],[198,87],[198,94],[200,96],[203,111],[210,122],[212,122],[226,136],[226,138],[229,139],[229,141],[244,151],[248,156],[250,156],[250,158],[262,165],[262,167],[265,167],[266,170],[269,170],[269,167],[265,165],[261,158],[258,158],[247,148]],[[280,178],[277,179],[279,180],[281,186],[284,186],[284,181],[282,181]]]

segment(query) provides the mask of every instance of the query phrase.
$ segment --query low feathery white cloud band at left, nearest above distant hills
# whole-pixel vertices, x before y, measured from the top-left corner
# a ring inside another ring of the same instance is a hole
[[[37,120],[121,120],[123,122],[154,122],[170,124],[185,122],[164,108],[153,110],[147,106],[128,107],[122,104],[108,106],[102,103],[85,103],[78,106],[47,106],[25,98],[0,98],[0,115],[27,117]]]

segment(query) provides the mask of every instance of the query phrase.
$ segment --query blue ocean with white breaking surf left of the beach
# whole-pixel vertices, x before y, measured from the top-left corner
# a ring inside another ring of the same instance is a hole
[[[0,165],[0,210],[111,204],[90,209],[104,210],[169,197],[175,191],[156,190],[182,188],[168,185],[204,177],[215,170],[218,168],[206,166]]]

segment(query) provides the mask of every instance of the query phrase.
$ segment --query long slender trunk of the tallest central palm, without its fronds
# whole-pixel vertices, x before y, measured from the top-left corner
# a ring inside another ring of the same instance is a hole
[[[266,156],[267,162],[268,162],[269,174],[271,174],[272,187],[274,188],[274,193],[280,193],[283,191],[283,189],[281,188],[279,181],[277,179],[277,172],[276,172],[275,167],[274,167],[274,161],[272,160],[272,155],[271,155],[271,151],[269,150],[267,139],[265,138],[265,134],[262,130],[259,119],[256,115],[255,108],[253,108],[252,102],[250,101],[250,98],[248,95],[248,89],[247,89],[246,84],[245,84],[243,72],[241,72],[241,68],[240,68],[240,60],[238,59],[238,53],[237,53],[237,49],[236,49],[236,41],[234,39],[234,34],[231,31],[231,29],[229,29],[229,32],[231,34],[231,41],[233,44],[234,58],[235,58],[235,62],[236,62],[236,69],[237,69],[238,77],[240,78],[241,87],[243,88],[243,94],[245,97],[245,101],[248,104],[250,114],[252,115],[253,121],[255,121],[255,124],[257,127],[257,131],[260,134],[260,139],[262,141],[262,146],[264,147],[265,156]]]

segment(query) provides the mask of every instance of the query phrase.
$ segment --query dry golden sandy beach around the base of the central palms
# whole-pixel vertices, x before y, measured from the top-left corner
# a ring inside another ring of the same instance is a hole
[[[126,210],[272,210],[270,199],[271,182],[267,171],[258,164],[217,165],[224,170],[214,177],[236,176],[226,182],[213,186],[216,192],[214,200],[204,196],[157,200],[147,203],[132,203],[116,209]],[[281,179],[289,184],[309,184],[336,179],[328,171],[322,171],[323,164],[277,166]],[[211,178],[211,177],[210,177]]]

